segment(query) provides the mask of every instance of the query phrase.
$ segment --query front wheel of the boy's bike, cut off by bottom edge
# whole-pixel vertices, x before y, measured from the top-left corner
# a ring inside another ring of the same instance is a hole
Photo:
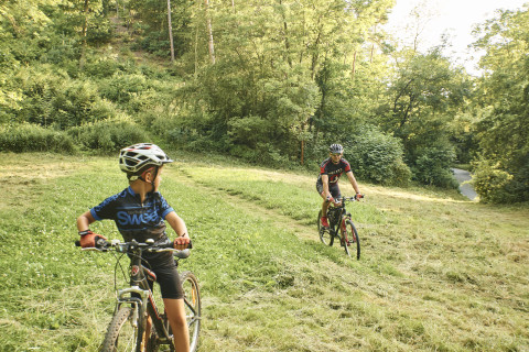
[[[136,320],[136,321],[134,321]],[[121,307],[112,317],[108,326],[105,341],[102,341],[101,352],[132,352],[137,351],[138,327],[140,322],[134,319],[134,309]]]

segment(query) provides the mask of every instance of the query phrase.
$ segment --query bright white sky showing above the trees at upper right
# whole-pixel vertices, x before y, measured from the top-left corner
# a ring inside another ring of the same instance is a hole
[[[413,35],[419,29],[419,51],[442,43],[442,35],[447,34],[452,45],[444,54],[453,58],[467,72],[477,75],[479,53],[467,48],[475,38],[472,31],[475,24],[483,23],[496,15],[497,9],[519,10],[529,0],[396,0],[386,31],[407,45],[412,45]],[[418,9],[419,22],[411,14]],[[408,26],[408,30],[407,30]]]

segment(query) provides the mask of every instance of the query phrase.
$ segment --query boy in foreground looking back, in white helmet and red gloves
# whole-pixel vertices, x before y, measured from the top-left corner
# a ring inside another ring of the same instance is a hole
[[[184,250],[190,244],[185,222],[158,191],[163,165],[173,161],[156,145],[140,143],[122,148],[119,167],[127,173],[129,187],[105,199],[77,218],[83,248],[93,248],[104,235],[91,232],[88,226],[96,220],[110,219],[125,241],[145,242],[168,240],[165,222],[176,232],[174,248]],[[156,274],[165,312],[179,352],[190,351],[190,337],[185,319],[183,292],[176,264],[171,252],[144,253],[147,265]]]

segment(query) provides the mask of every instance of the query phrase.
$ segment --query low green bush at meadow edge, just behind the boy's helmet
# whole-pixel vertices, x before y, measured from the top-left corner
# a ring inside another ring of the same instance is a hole
[[[86,123],[69,129],[68,134],[83,148],[100,153],[116,153],[123,146],[149,141],[145,130],[127,117]]]

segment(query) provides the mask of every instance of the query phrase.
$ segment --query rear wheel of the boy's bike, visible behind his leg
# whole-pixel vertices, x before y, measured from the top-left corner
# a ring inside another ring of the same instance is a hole
[[[184,272],[180,279],[184,290],[185,317],[190,329],[190,351],[194,352],[198,346],[201,332],[201,292],[198,280],[193,273]]]

